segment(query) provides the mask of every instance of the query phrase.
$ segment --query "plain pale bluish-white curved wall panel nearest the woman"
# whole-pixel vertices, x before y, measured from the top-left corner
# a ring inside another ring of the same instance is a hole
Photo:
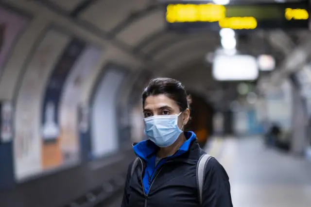
[[[118,133],[118,91],[125,71],[107,68],[100,80],[91,106],[91,157],[99,158],[120,149]]]

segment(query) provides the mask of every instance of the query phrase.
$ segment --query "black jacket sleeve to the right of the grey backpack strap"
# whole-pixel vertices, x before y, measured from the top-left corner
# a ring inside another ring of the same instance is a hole
[[[215,158],[208,161],[205,169],[202,207],[233,207],[229,177]]]

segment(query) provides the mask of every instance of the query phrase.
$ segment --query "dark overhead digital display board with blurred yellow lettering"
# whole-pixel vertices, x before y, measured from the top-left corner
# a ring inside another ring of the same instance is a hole
[[[204,2],[166,4],[169,29],[308,29],[309,1],[217,5]]]

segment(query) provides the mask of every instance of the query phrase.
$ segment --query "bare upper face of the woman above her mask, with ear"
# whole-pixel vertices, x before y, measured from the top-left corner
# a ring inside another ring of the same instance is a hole
[[[165,115],[178,115],[181,111],[179,110],[178,104],[173,99],[168,98],[164,94],[156,96],[148,96],[143,106],[144,117],[152,116],[165,116]],[[178,127],[181,129],[183,125],[186,125],[189,121],[190,110],[187,108],[178,117]]]

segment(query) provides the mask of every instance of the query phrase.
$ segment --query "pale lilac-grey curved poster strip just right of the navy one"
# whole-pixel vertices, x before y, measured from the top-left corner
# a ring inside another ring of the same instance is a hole
[[[78,104],[81,87],[92,70],[95,69],[101,52],[95,46],[87,46],[73,66],[64,86],[59,111],[60,142],[64,162],[75,162],[79,159],[80,146],[77,120],[79,119]]]

